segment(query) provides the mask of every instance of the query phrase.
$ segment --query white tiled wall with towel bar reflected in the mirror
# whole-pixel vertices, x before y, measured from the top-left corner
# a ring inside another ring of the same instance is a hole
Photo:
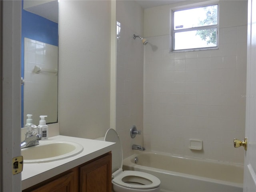
[[[57,121],[58,76],[54,73],[34,73],[34,67],[58,69],[58,46],[24,38],[24,124],[26,115],[47,115],[46,122]]]

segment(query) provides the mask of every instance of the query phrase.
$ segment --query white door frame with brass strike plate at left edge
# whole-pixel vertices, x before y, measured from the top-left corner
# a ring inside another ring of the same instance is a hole
[[[21,1],[0,1],[1,12],[1,192],[20,192],[21,174],[12,174],[20,155]]]

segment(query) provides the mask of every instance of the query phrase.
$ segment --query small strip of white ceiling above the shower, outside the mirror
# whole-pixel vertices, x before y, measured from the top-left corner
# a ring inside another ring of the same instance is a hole
[[[161,5],[173,4],[184,0],[135,0],[142,8],[152,8]]]

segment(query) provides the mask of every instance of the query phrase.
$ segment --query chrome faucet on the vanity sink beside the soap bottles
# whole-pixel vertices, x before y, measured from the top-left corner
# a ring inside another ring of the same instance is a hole
[[[25,140],[20,144],[21,148],[26,148],[26,147],[35,146],[39,144],[39,140],[42,139],[42,136],[40,134],[37,134],[35,130],[36,130],[36,125],[32,124],[29,126],[28,132],[26,133],[26,136],[25,136]]]

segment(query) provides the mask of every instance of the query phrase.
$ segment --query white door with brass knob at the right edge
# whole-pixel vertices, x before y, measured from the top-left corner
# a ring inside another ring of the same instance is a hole
[[[248,0],[244,192],[256,192],[256,0]]]

